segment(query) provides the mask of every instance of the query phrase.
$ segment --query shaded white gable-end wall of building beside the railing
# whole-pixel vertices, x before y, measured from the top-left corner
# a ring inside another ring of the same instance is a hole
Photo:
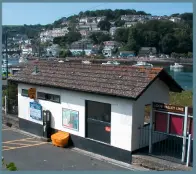
[[[140,142],[140,126],[144,125],[144,108],[146,104],[152,102],[168,103],[169,102],[169,88],[157,79],[145,93],[134,103],[132,126],[132,151],[139,148]]]

